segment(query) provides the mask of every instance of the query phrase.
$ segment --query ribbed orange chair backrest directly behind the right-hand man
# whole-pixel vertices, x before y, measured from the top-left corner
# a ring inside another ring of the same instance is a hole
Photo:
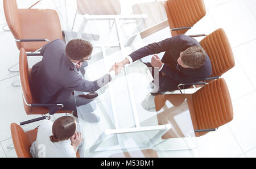
[[[210,33],[200,41],[200,45],[204,48],[212,63],[211,77],[220,77],[234,67],[232,48],[224,29],[219,28]]]

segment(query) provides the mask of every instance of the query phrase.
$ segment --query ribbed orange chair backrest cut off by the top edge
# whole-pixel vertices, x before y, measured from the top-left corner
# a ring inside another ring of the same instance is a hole
[[[192,27],[206,14],[203,0],[168,0],[164,6],[170,28]],[[171,34],[176,36],[187,31],[171,31]]]

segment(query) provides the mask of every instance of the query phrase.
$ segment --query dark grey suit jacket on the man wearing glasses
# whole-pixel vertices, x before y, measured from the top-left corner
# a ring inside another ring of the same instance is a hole
[[[41,50],[43,60],[32,67],[32,94],[40,103],[63,103],[73,90],[94,92],[112,80],[109,74],[94,82],[83,79],[65,47],[60,39],[48,43]]]

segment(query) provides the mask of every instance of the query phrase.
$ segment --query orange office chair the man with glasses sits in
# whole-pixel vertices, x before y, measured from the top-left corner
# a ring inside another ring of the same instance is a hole
[[[27,115],[42,115],[49,113],[72,113],[72,111],[59,110],[63,108],[63,104],[40,104],[37,103],[31,93],[31,71],[28,69],[26,51],[21,48],[19,54],[19,71],[20,71],[20,84],[23,95],[23,104]]]

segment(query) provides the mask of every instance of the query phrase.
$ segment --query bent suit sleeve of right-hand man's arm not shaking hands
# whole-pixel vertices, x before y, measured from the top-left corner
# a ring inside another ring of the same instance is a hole
[[[180,71],[177,71],[176,69],[168,65],[164,65],[161,72],[168,75],[168,77],[174,79],[175,81],[183,84],[196,83],[205,79],[203,77],[190,77],[188,75],[184,75],[183,73],[180,73]]]

